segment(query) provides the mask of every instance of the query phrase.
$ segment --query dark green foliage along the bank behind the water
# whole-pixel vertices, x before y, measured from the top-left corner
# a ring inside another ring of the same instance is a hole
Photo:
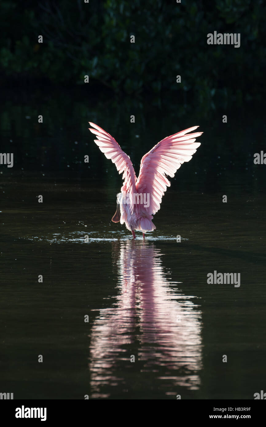
[[[265,94],[263,0],[3,0],[0,15],[2,85],[10,78],[82,85],[89,75],[115,92],[183,90],[200,103]],[[213,31],[240,33],[240,48],[208,45]]]

